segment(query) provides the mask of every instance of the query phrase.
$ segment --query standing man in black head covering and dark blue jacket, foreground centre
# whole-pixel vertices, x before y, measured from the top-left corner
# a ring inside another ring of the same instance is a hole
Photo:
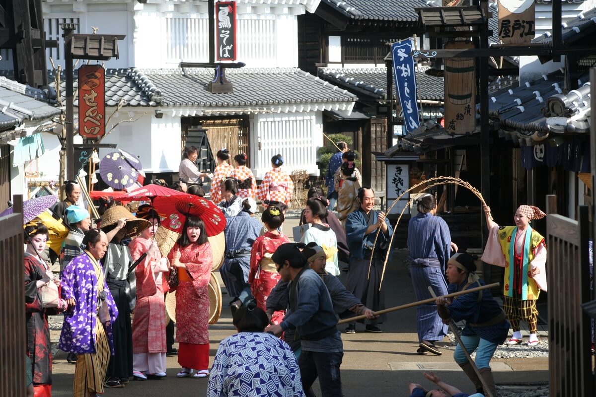
[[[314,396],[311,386],[318,377],[323,397],[341,397],[343,343],[336,328],[337,317],[325,283],[306,266],[307,258],[299,247],[296,243],[282,244],[271,257],[281,279],[292,281],[291,313],[266,331],[280,336],[284,331],[296,330],[302,345],[298,365],[306,396]]]

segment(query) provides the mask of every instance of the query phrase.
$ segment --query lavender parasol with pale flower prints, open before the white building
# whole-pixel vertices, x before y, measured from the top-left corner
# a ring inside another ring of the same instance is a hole
[[[100,161],[100,175],[106,185],[114,189],[132,186],[142,170],[141,162],[134,155],[125,152],[111,152]]]

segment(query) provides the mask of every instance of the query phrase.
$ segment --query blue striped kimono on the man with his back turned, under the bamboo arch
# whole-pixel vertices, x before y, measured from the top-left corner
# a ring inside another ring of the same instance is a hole
[[[436,296],[446,295],[445,270],[451,256],[451,233],[445,221],[430,212],[418,214],[408,224],[408,249],[410,251],[410,274],[417,301],[432,298],[429,286]],[[443,340],[447,326],[443,324],[437,305],[419,305],[418,341]]]

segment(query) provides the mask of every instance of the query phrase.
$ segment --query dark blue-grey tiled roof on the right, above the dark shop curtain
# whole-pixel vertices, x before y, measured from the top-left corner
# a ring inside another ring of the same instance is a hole
[[[563,76],[541,79],[491,96],[489,114],[499,120],[499,134],[520,145],[534,145],[552,134],[588,133],[590,96],[588,76],[579,89],[563,94]]]

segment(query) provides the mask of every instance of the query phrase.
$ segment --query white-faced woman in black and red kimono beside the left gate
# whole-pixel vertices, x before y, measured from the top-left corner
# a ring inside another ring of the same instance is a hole
[[[58,299],[57,308],[44,308],[39,287],[57,284],[45,261],[39,258],[48,240],[48,229],[41,223],[25,227],[28,243],[25,251],[25,312],[27,318],[27,354],[31,359],[35,397],[52,395],[52,349],[48,315],[65,310],[66,301]],[[58,291],[58,286],[55,286]]]

